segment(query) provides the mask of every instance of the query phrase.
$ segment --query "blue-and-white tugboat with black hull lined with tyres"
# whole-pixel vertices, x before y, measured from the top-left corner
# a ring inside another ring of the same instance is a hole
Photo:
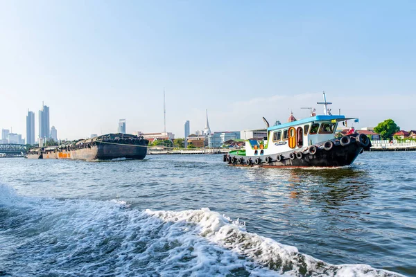
[[[325,93],[324,114],[296,120],[293,114],[289,122],[270,127],[266,118],[267,136],[261,139],[245,141],[244,150],[225,154],[223,161],[230,166],[260,166],[265,168],[281,167],[338,167],[349,166],[358,154],[371,147],[370,139],[364,134],[356,134],[350,129],[345,136],[336,137],[339,122],[356,120],[331,114]]]

